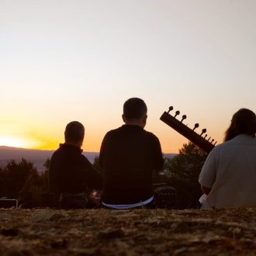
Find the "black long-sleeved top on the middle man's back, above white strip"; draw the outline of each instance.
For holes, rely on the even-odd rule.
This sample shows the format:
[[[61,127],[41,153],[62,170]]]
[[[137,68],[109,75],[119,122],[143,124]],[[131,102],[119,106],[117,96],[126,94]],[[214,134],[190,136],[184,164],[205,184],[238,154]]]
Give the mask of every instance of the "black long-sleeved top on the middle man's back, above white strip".
[[[150,198],[153,170],[163,165],[157,137],[131,125],[106,134],[100,161],[105,171],[103,202],[123,204]]]

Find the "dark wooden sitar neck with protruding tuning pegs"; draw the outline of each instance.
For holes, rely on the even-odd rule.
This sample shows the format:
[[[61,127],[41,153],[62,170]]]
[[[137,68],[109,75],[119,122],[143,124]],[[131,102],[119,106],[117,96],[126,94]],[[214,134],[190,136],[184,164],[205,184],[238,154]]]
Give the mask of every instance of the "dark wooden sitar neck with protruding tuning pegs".
[[[190,140],[193,144],[200,147],[202,150],[206,151],[206,153],[209,153],[213,147],[215,147],[216,143],[214,142],[214,139],[211,139],[211,137],[207,138],[206,129],[202,129],[202,132],[196,133],[195,129],[199,127],[199,123],[195,123],[195,126],[193,129],[189,128],[187,125],[182,123],[187,116],[183,115],[181,120],[178,120],[176,116],[180,114],[180,112],[177,110],[175,112],[174,116],[171,116],[170,112],[173,110],[173,107],[170,106],[168,112],[165,112],[160,117],[161,121],[166,123],[168,126],[171,126],[172,129],[176,130],[178,133],[182,134],[184,137],[186,137],[188,140]]]

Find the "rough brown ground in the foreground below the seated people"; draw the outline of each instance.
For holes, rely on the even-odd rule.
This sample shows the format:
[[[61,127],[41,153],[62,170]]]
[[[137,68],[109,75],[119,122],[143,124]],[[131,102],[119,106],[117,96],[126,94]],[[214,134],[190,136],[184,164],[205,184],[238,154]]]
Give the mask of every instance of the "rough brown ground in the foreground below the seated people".
[[[256,209],[0,209],[0,255],[254,255]]]

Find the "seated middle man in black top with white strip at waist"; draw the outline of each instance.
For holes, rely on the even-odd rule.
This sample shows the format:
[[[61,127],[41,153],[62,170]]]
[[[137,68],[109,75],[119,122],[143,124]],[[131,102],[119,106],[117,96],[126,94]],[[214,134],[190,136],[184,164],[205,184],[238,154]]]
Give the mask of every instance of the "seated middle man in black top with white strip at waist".
[[[114,209],[139,206],[171,208],[175,190],[154,192],[152,173],[163,168],[161,144],[144,130],[147,106],[142,99],[128,99],[123,105],[124,125],[106,133],[99,154],[103,170],[102,205]]]

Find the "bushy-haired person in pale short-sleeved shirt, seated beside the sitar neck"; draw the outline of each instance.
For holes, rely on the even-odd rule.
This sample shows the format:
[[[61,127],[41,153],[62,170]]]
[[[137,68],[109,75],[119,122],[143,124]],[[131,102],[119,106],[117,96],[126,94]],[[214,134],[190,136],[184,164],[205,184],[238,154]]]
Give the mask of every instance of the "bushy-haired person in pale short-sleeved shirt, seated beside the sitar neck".
[[[238,110],[199,175],[201,209],[256,206],[256,116]]]

